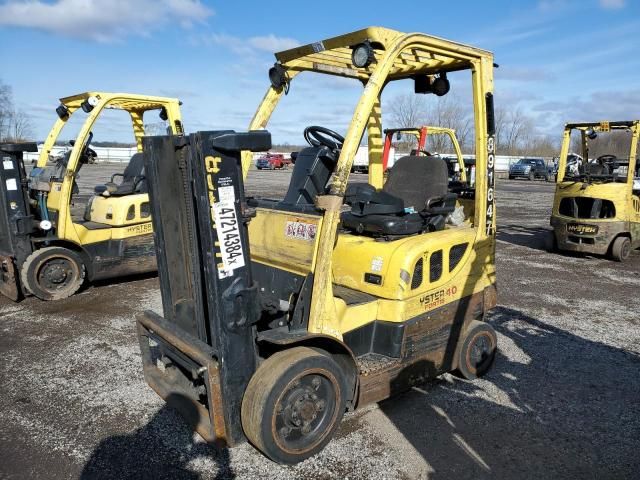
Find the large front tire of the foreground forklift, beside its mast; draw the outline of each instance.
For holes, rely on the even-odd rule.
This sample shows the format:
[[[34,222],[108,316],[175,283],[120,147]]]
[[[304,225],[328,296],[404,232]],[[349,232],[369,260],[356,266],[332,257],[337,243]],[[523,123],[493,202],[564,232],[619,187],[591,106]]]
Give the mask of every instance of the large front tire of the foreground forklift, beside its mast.
[[[301,462],[321,451],[333,437],[346,409],[346,385],[342,369],[327,353],[307,347],[275,353],[260,365],[245,390],[244,433],[271,460]],[[319,397],[304,398],[315,392]],[[305,420],[307,433],[303,432]],[[303,424],[295,426],[294,421]],[[289,435],[298,438],[289,443]]]

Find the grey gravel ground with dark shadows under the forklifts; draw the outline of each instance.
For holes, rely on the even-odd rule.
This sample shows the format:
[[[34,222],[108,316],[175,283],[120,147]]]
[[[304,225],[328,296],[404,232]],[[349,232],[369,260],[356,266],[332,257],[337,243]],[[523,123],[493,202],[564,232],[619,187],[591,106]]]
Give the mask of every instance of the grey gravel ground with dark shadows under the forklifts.
[[[85,167],[83,183],[105,170]],[[248,190],[273,195],[288,178],[252,172]],[[349,414],[295,467],[207,446],[146,386],[133,317],[161,310],[154,276],[57,303],[0,299],[0,477],[639,478],[640,252],[624,265],[546,253],[552,195],[498,184],[494,369]]]

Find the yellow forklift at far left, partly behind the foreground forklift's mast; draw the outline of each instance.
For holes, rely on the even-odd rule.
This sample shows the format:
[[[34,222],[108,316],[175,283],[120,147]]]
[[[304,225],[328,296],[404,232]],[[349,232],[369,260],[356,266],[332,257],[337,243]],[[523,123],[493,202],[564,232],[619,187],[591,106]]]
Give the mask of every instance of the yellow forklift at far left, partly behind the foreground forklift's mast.
[[[0,292],[18,300],[31,293],[42,300],[73,295],[90,281],[156,269],[142,137],[144,115],[160,113],[173,134],[183,133],[176,99],[128,93],[88,92],[60,99],[58,120],[27,172],[23,151],[35,144],[0,145]],[[72,211],[76,177],[92,155],[91,128],[105,109],[129,113],[138,152],[123,174],[97,185],[84,213]],[[72,149],[48,164],[52,147],[73,115],[86,114]]]

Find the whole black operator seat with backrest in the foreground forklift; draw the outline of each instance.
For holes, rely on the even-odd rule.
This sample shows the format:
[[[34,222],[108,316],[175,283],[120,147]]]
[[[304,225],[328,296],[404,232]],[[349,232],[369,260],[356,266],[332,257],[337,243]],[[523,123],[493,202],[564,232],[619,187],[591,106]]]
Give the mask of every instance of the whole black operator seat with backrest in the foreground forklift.
[[[447,164],[442,158],[402,157],[389,171],[382,190],[371,185],[347,189],[351,211],[342,214],[342,226],[372,236],[442,230],[457,198],[448,192],[448,183]]]

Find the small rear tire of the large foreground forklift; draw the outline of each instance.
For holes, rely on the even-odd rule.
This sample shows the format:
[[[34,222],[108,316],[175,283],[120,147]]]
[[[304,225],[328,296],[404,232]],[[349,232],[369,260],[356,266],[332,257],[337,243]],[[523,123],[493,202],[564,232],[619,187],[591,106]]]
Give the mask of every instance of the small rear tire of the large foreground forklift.
[[[478,347],[479,350],[475,350],[474,347]],[[464,340],[458,350],[458,369],[455,373],[467,380],[482,377],[491,369],[497,347],[498,338],[493,327],[474,320],[464,332]]]

